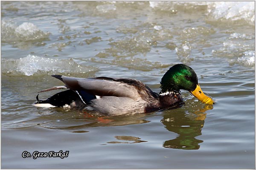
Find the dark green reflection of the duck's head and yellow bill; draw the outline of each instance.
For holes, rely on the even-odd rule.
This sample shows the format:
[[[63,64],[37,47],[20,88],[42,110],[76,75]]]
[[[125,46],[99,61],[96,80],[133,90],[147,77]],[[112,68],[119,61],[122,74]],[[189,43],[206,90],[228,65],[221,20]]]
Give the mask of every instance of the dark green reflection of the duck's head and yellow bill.
[[[163,143],[163,147],[184,150],[198,150],[199,143],[203,140],[196,139],[197,136],[202,135],[202,128],[204,127],[204,119],[206,118],[205,111],[212,109],[212,107],[205,106],[194,113],[181,113],[180,111],[169,110],[163,115],[161,122],[166,129],[178,134],[176,139],[171,139]]]

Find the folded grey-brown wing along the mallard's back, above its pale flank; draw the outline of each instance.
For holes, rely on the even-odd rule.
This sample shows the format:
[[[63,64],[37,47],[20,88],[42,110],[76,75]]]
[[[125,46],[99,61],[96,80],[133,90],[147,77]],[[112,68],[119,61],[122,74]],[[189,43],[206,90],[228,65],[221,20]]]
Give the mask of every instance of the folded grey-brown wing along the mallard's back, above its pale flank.
[[[52,75],[60,79],[67,88],[74,91],[86,91],[95,96],[128,97],[135,101],[145,98],[158,98],[158,94],[150,90],[145,84],[135,79],[97,77],[75,78]]]

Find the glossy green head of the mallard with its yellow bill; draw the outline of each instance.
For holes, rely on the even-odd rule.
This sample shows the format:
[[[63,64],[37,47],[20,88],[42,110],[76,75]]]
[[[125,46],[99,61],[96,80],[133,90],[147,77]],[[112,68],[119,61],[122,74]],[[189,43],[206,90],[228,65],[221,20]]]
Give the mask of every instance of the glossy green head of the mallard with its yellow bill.
[[[177,64],[172,66],[161,80],[161,93],[179,92],[180,89],[187,90],[201,102],[213,105],[215,102],[206,96],[198,84],[195,71],[187,65]]]

